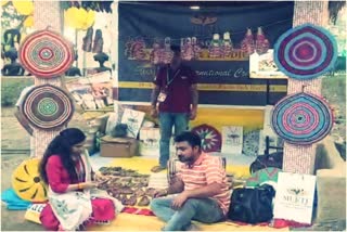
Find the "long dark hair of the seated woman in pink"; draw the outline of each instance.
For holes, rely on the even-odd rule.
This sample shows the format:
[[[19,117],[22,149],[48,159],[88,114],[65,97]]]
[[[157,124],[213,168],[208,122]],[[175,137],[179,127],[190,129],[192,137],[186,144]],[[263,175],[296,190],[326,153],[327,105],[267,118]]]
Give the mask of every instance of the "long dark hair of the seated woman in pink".
[[[60,132],[48,145],[43,157],[39,165],[39,173],[44,183],[48,184],[46,166],[49,157],[59,155],[62,159],[64,168],[67,170],[72,180],[77,179],[75,164],[72,158],[72,147],[86,140],[85,133],[77,128],[67,128]]]

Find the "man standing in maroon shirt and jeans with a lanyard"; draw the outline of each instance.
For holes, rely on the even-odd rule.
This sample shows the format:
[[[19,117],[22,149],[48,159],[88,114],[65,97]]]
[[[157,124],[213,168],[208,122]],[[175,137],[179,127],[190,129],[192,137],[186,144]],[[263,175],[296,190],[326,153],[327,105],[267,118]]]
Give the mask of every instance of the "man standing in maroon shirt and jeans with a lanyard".
[[[159,172],[167,168],[170,156],[172,127],[175,134],[188,129],[189,120],[196,117],[198,93],[197,76],[190,67],[182,64],[180,47],[171,46],[171,63],[158,70],[151,95],[152,117],[159,117],[160,145],[159,165],[151,169]],[[157,111],[156,103],[159,102]]]

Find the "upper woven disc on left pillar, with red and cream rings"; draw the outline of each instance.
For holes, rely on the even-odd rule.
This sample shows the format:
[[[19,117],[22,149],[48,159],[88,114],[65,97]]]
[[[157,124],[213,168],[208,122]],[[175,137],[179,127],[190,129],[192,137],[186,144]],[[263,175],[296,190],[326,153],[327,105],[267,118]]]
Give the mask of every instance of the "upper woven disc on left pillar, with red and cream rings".
[[[39,30],[25,38],[20,48],[23,66],[34,76],[53,78],[63,75],[73,64],[70,42],[51,30]]]

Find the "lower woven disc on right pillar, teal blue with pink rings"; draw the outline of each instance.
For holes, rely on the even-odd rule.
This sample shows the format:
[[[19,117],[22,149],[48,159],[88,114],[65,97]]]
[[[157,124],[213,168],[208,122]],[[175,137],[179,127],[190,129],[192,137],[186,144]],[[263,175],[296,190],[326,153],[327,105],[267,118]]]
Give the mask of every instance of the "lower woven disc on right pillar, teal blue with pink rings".
[[[333,113],[319,96],[287,95],[272,112],[273,130],[288,143],[311,144],[322,140],[333,127]]]

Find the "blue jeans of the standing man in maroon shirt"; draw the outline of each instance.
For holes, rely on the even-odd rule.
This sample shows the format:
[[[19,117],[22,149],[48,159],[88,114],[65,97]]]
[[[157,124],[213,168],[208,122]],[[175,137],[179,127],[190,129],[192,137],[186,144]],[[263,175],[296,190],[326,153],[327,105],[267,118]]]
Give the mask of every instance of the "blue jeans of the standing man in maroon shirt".
[[[159,145],[159,165],[167,167],[170,157],[170,139],[172,127],[175,126],[175,136],[188,130],[189,115],[187,113],[159,113],[160,124],[160,145]]]

